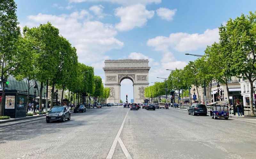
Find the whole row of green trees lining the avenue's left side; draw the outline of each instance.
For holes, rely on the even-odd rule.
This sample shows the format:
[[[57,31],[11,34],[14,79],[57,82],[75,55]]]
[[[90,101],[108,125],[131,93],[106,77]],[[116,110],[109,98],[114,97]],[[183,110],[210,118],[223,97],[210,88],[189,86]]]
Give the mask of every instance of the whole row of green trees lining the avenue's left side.
[[[4,99],[5,82],[10,75],[17,80],[26,79],[28,99],[30,88],[36,81],[39,82],[40,110],[42,91],[48,84],[52,87],[51,107],[53,106],[55,88],[62,90],[62,99],[65,90],[68,90],[68,93],[73,92],[76,97],[108,98],[109,89],[103,88],[101,78],[94,76],[92,67],[78,62],[76,48],[60,35],[58,28],[48,22],[34,28],[24,27],[21,34],[16,9],[14,0],[1,2],[0,77],[3,89],[2,99]],[[0,115],[3,114],[3,106],[4,103],[1,102]]]

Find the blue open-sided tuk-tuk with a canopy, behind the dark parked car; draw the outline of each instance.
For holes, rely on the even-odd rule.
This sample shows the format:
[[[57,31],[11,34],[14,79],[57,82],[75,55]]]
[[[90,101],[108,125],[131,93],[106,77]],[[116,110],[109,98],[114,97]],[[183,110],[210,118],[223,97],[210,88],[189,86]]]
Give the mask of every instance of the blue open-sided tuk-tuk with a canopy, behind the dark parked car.
[[[210,115],[212,119],[225,118],[228,120],[228,102],[227,101],[216,101],[211,103]]]

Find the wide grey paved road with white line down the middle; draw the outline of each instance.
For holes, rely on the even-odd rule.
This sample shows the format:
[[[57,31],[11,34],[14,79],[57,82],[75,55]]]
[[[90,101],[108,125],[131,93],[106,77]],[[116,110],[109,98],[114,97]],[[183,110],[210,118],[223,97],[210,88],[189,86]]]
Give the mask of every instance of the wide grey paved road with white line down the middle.
[[[0,158],[255,159],[255,127],[182,110],[103,107],[65,123],[1,127]]]

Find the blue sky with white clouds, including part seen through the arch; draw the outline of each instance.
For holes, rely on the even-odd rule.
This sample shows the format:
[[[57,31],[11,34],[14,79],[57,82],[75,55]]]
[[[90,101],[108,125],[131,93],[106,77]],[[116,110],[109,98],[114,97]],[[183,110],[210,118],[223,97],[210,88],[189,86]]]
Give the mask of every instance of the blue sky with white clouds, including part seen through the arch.
[[[218,41],[229,18],[255,11],[255,0],[16,0],[21,28],[50,21],[77,48],[78,60],[95,68],[104,82],[106,59],[149,59],[149,82],[183,68]],[[133,96],[121,83],[121,99]]]

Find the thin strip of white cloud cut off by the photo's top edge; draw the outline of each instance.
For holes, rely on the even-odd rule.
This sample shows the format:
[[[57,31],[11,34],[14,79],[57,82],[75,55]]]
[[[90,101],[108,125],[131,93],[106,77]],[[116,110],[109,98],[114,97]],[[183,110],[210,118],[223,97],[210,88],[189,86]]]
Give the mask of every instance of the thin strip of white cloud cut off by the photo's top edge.
[[[69,0],[70,3],[81,3],[81,2],[111,2],[122,5],[133,5],[133,4],[151,4],[161,3],[162,0]]]

